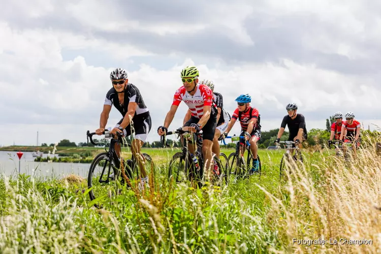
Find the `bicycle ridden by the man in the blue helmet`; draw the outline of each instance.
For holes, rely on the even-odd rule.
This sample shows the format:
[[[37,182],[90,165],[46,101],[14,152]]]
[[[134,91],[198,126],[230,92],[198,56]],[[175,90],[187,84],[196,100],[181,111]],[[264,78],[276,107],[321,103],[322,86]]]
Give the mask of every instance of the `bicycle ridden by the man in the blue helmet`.
[[[237,142],[235,152],[230,153],[229,157],[228,157],[229,164],[230,164],[230,160],[232,158],[232,163],[230,164],[231,166],[229,167],[230,168],[230,174],[237,175],[237,176],[247,176],[248,175],[247,174],[248,167],[250,167],[250,165],[252,164],[251,160],[253,160],[251,150],[250,150],[249,141],[246,140],[247,159],[245,162],[245,158],[243,157],[243,154],[241,154],[241,150],[243,148],[243,143],[239,142],[240,139],[244,139],[245,137],[234,135],[234,136],[227,136],[225,138],[232,139],[233,142]],[[226,145],[225,140],[223,140],[223,141],[224,141],[224,144]],[[240,159],[238,160],[238,158],[240,158]],[[259,173],[259,175],[261,175],[262,174],[262,163],[261,163],[261,158],[260,158],[259,154],[257,154],[257,159],[259,162],[259,172],[258,173]],[[232,172],[232,169],[234,166],[234,161],[236,161],[235,165],[237,166],[237,168]]]

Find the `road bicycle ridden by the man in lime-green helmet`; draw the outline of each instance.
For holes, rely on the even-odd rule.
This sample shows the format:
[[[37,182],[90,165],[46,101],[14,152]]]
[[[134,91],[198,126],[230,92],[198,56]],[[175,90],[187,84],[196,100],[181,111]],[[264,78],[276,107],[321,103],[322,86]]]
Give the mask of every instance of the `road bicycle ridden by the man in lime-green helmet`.
[[[172,178],[175,179],[176,182],[181,182],[183,179],[180,179],[180,177],[186,176],[187,179],[190,182],[197,182],[198,186],[202,186],[202,181],[204,178],[204,156],[202,153],[202,133],[191,133],[188,131],[183,131],[182,128],[177,129],[176,131],[167,132],[166,135],[163,135],[161,137],[161,141],[163,142],[164,146],[167,146],[166,144],[166,136],[177,134],[177,138],[181,136],[181,152],[176,152],[169,163],[168,168],[168,179],[171,181]],[[193,140],[196,140],[196,151],[195,155],[198,160],[198,167],[196,167],[194,161],[192,160],[192,156],[190,155],[190,152],[188,150],[188,138],[192,137]],[[224,154],[225,155],[225,154]],[[226,156],[226,155],[225,155]],[[176,168],[176,161],[179,160],[179,165]],[[217,163],[219,167],[219,172],[216,172],[213,167],[213,175],[218,176],[218,179],[224,177],[225,174],[223,173],[224,169],[221,167],[221,164],[219,163],[219,160],[216,160],[216,157],[213,156],[214,163]],[[176,175],[173,175],[175,173]]]

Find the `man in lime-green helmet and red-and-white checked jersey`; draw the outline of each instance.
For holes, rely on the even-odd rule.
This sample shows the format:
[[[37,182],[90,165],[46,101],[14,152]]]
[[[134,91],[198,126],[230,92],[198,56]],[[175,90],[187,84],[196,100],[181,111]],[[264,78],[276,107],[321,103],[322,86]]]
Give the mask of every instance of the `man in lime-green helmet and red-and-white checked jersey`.
[[[168,131],[173,117],[181,101],[185,102],[189,110],[192,112],[190,119],[183,125],[183,131],[203,131],[202,152],[207,163],[206,171],[210,172],[213,166],[212,145],[213,137],[217,124],[217,109],[213,105],[213,92],[204,84],[198,84],[199,71],[194,66],[185,67],[181,71],[181,79],[183,86],[175,92],[171,109],[167,113],[164,125],[157,129],[160,136],[165,135]],[[197,165],[195,156],[195,146],[189,142],[188,149],[192,155],[192,159]]]

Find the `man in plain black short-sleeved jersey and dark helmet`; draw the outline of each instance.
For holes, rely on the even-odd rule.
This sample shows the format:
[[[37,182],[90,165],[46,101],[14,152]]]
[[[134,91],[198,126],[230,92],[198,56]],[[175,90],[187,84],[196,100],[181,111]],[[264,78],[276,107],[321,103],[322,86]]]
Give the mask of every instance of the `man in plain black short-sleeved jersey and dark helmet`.
[[[297,113],[298,105],[295,103],[288,104],[286,110],[288,114],[283,117],[275,143],[280,141],[280,137],[283,135],[284,128],[287,125],[289,128],[288,141],[294,141],[298,144],[299,148],[302,148],[302,142],[307,140],[307,129],[304,116]]]

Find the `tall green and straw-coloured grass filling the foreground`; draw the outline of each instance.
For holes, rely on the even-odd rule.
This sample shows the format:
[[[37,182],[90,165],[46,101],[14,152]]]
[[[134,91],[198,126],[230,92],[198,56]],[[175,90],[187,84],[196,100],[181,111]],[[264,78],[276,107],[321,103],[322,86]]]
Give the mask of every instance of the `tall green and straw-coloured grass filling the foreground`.
[[[350,162],[332,151],[305,152],[304,166],[290,165],[292,174],[282,179],[283,151],[261,150],[261,177],[201,189],[168,182],[174,150],[146,151],[155,163],[150,188],[123,188],[106,196],[101,209],[89,203],[86,180],[76,176],[3,177],[0,253],[380,251],[381,158],[374,146]],[[318,239],[328,242],[297,242]]]

